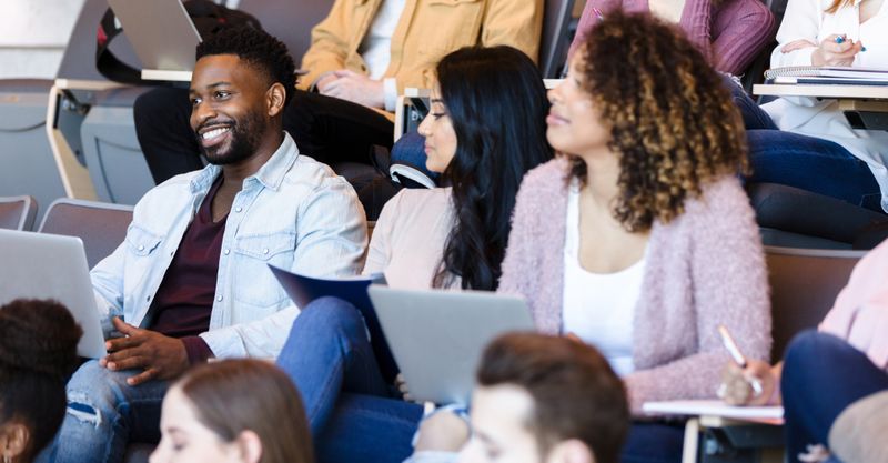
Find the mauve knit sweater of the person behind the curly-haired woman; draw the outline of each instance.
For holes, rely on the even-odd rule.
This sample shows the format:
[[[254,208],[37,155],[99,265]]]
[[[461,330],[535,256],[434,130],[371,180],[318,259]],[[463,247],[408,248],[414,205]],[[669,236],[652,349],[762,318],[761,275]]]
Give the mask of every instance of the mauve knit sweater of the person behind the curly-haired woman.
[[[715,69],[739,76],[774,40],[776,21],[759,0],[685,0],[678,26],[696,43]],[[571,52],[595,27],[598,8],[605,16],[622,8],[626,12],[649,12],[648,0],[589,0],[579,17]]]

